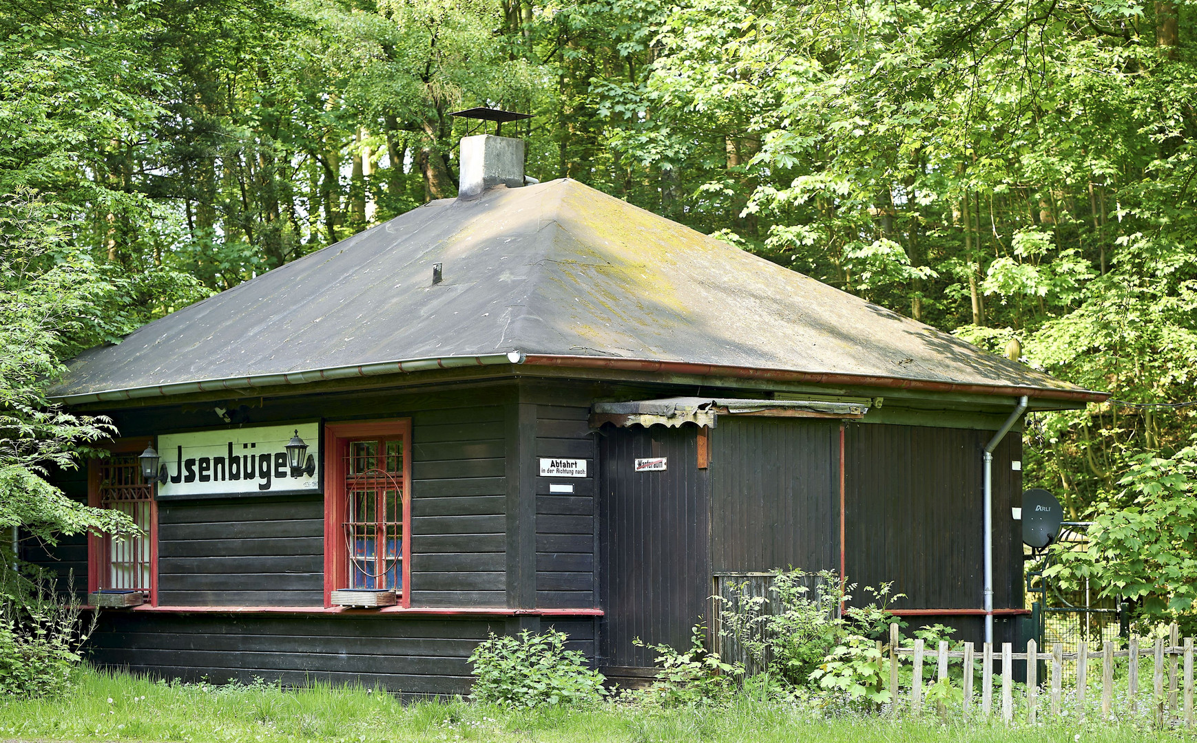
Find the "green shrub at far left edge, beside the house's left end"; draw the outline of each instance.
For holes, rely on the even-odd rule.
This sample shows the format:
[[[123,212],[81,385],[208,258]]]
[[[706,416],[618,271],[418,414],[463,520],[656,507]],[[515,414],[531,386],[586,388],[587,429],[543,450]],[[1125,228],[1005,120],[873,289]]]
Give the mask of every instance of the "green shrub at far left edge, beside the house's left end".
[[[79,622],[79,602],[41,578],[10,577],[0,596],[0,694],[57,696],[67,690],[96,628]]]

